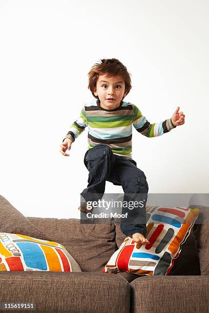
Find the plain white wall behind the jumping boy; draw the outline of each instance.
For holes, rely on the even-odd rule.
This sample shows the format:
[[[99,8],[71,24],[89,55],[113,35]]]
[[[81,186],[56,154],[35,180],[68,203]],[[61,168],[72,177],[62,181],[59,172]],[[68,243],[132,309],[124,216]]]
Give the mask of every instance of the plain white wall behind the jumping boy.
[[[124,101],[151,122],[177,106],[185,124],[157,138],[133,128],[150,193],[207,193],[208,1],[0,0],[0,194],[26,216],[79,218],[87,129],[59,144],[84,103],[88,72],[117,58],[132,74]],[[122,192],[107,182],[106,192]]]

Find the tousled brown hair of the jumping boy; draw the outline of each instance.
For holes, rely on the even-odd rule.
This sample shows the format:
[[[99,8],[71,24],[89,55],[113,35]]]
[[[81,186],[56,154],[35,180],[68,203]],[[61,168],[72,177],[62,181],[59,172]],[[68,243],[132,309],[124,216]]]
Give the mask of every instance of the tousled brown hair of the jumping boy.
[[[125,83],[125,92],[130,92],[132,85],[131,85],[131,74],[127,71],[126,66],[124,66],[119,60],[117,59],[100,59],[100,63],[95,63],[91,70],[88,73],[89,76],[89,86],[92,95],[94,98],[98,99],[98,96],[94,95],[94,90],[96,88],[96,83],[99,78],[99,75],[108,75],[108,77],[114,76],[121,76],[124,79]]]

